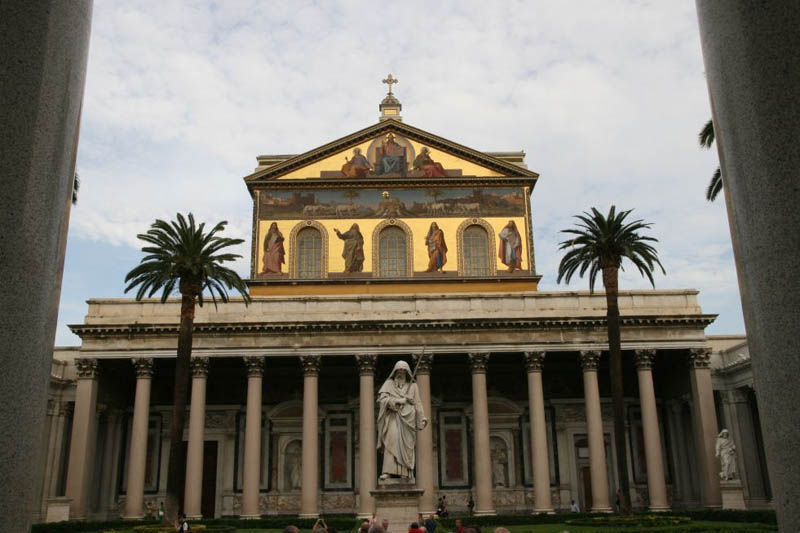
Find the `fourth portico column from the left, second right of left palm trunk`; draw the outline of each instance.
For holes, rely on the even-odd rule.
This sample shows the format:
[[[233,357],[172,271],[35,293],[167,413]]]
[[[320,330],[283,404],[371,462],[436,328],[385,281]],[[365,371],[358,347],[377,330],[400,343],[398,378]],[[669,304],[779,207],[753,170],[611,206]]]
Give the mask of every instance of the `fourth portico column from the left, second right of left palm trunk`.
[[[245,357],[247,367],[247,414],[244,426],[242,468],[242,514],[244,519],[261,517],[258,500],[261,489],[261,380],[263,357]]]

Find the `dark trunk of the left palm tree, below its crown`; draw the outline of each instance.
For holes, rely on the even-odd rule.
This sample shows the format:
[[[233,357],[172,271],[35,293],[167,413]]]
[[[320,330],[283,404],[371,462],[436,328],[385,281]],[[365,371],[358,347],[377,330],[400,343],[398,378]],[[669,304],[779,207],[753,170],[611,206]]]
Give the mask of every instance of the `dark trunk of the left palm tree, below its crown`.
[[[182,284],[183,285],[183,284]],[[167,466],[167,501],[165,520],[178,519],[178,494],[183,482],[181,472],[185,464],[183,451],[183,426],[186,419],[186,400],[189,395],[189,360],[192,357],[192,329],[195,300],[199,291],[181,287],[181,326],[178,333],[178,355],[175,360],[175,393],[172,400],[172,423],[169,429],[169,463]]]

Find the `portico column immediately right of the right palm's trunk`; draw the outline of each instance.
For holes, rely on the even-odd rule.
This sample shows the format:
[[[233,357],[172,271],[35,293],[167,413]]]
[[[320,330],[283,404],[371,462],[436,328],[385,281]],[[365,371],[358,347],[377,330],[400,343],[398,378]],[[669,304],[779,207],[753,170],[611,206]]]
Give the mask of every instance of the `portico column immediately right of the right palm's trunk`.
[[[661,431],[658,428],[658,408],[653,389],[655,350],[636,350],[636,372],[639,375],[639,403],[642,409],[644,457],[647,465],[647,493],[651,511],[668,511],[667,483],[664,478],[664,456],[661,451]]]

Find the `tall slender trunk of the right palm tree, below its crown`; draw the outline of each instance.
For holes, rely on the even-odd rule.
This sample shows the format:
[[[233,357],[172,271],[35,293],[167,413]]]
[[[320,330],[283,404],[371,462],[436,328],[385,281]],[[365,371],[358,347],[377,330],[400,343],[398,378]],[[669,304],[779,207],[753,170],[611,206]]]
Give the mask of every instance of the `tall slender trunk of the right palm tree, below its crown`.
[[[625,401],[622,388],[622,348],[619,330],[619,284],[617,266],[603,268],[608,322],[608,353],[610,359],[611,396],[614,400],[614,447],[617,452],[617,493],[619,512],[630,514],[631,496],[628,484],[628,453],[625,446]],[[615,498],[616,500],[617,498]]]

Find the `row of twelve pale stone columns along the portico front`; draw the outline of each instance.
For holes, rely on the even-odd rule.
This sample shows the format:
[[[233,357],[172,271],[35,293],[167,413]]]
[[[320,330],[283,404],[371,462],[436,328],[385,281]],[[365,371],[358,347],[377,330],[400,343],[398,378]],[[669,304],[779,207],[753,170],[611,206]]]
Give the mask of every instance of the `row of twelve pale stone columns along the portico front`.
[[[658,409],[653,388],[652,368],[656,351],[637,350],[635,365],[639,383],[642,425],[644,434],[645,461],[649,507],[653,511],[669,509],[664,475],[663,451],[658,423]],[[707,507],[721,504],[719,479],[716,475],[714,440],[716,437],[716,414],[714,411],[708,349],[691,350],[689,362],[689,381],[691,383],[697,448],[701,450],[701,483],[703,503]],[[542,387],[542,368],[547,353],[544,351],[524,352],[527,371],[528,399],[530,411],[530,453],[534,479],[534,509],[536,513],[553,512],[550,491],[550,458],[548,454],[545,406]],[[585,350],[580,352],[583,371],[583,387],[586,413],[587,436],[592,490],[592,511],[611,511],[609,497],[608,466],[604,442],[603,420],[598,389],[597,367],[601,352]],[[425,412],[431,414],[430,373],[431,355],[422,355],[417,365],[417,386]],[[475,514],[494,514],[492,494],[492,458],[489,439],[489,410],[486,388],[486,374],[490,353],[468,353],[472,381],[473,409],[473,474],[475,493]],[[247,404],[245,414],[245,437],[243,457],[243,486],[241,499],[242,518],[257,518],[259,509],[259,488],[261,484],[261,419],[262,419],[262,379],[265,359],[261,356],[244,357],[247,371]],[[355,356],[359,375],[359,516],[371,516],[375,501],[371,491],[377,481],[377,451],[375,432],[375,365],[377,355],[359,354]],[[318,376],[321,356],[301,356],[303,369],[303,422],[302,422],[302,485],[300,497],[300,516],[319,515],[319,462],[318,440]],[[134,359],[136,371],[136,397],[133,410],[133,431],[128,461],[127,498],[124,517],[129,519],[144,516],[143,491],[147,447],[147,425],[150,410],[150,383],[153,375],[153,360]],[[90,475],[91,457],[90,435],[94,432],[94,409],[97,397],[97,361],[76,360],[78,367],[78,388],[76,392],[75,416],[73,423],[72,447],[67,476],[67,496],[72,498],[71,516],[86,516],[86,500]],[[205,432],[205,390],[208,377],[208,358],[196,357],[191,363],[192,396],[189,415],[188,448],[186,458],[186,486],[184,510],[189,518],[201,516],[200,503],[203,479],[203,441]],[[416,444],[418,488],[423,490],[420,497],[420,512],[434,512],[436,508],[436,487],[434,485],[434,454],[432,424],[420,431]],[[617,460],[627,460],[618,458]]]

